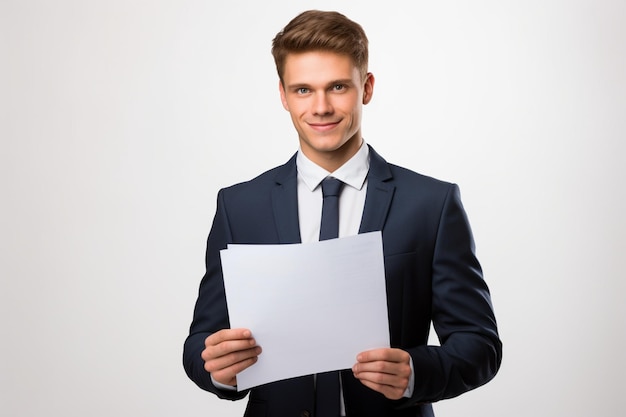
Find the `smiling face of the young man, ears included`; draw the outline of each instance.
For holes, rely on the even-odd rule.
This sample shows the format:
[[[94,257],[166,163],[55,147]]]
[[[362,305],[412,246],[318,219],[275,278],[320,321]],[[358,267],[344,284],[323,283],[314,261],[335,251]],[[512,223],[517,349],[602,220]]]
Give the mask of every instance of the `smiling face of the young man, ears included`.
[[[333,172],[358,151],[362,107],[372,98],[374,77],[367,74],[362,80],[350,57],[289,54],[279,88],[309,159]]]

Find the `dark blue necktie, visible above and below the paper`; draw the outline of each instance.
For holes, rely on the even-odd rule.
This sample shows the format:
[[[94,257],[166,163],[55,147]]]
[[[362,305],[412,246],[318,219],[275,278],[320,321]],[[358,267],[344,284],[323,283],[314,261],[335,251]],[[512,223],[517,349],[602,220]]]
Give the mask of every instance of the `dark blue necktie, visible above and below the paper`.
[[[343,182],[327,177],[322,181],[322,224],[320,240],[339,237],[339,193]],[[317,374],[315,383],[315,416],[336,417],[339,415],[339,371]]]

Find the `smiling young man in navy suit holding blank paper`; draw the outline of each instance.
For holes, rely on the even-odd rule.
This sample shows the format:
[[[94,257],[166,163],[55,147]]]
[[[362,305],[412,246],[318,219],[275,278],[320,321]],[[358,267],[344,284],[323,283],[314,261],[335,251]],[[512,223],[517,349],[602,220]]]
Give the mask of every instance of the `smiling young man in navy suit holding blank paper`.
[[[335,12],[304,12],[272,53],[300,148],[285,165],[219,192],[186,372],[220,398],[249,393],[246,416],[432,416],[431,402],[493,378],[502,354],[458,187],[388,164],[364,143],[362,106],[374,76],[361,26]],[[340,373],[237,392],[237,374],[262,347],[254,329],[230,329],[219,251],[320,239],[327,177],[342,182],[339,237],[382,231],[392,347],[362,352]],[[426,345],[431,321],[441,346]]]

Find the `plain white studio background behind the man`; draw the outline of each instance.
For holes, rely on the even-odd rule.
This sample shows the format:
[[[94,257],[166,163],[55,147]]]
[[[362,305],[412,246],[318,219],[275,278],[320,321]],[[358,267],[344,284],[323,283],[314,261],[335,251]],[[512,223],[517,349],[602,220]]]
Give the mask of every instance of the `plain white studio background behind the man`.
[[[218,189],[296,150],[270,42],[310,8],[368,33],[366,140],[461,186],[504,362],[438,416],[623,415],[619,0],[0,0],[0,414],[242,414],[182,344]]]

